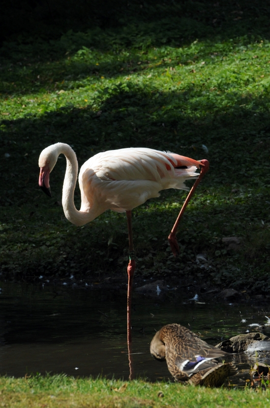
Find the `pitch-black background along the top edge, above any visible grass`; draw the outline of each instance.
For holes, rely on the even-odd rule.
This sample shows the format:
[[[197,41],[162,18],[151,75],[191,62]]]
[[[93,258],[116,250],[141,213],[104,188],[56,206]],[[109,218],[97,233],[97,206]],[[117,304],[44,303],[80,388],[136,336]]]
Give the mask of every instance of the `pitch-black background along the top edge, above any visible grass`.
[[[164,31],[164,24],[168,24],[167,34],[178,24],[178,42],[214,33],[264,38],[270,34],[269,1],[3,0],[1,4],[0,43],[18,36],[21,41],[27,36],[56,39],[69,30],[119,29],[134,24],[148,24],[148,31],[156,35]],[[184,31],[179,25],[183,18]],[[169,37],[163,36],[163,42],[170,41]]]

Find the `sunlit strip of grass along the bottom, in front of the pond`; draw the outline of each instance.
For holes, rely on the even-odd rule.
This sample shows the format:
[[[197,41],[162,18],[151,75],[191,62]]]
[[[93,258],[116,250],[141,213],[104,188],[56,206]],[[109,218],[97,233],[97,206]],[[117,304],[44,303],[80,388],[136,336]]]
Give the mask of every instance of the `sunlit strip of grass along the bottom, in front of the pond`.
[[[267,407],[269,390],[206,389],[173,383],[36,375],[0,378],[0,403],[6,407]],[[163,397],[158,395],[162,393]]]

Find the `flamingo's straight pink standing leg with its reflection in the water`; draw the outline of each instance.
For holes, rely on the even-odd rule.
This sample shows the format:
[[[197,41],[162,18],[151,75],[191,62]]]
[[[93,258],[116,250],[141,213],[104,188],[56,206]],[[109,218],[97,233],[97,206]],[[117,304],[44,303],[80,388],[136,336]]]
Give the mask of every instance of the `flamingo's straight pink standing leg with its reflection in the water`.
[[[126,211],[128,219],[128,232],[129,232],[129,264],[128,264],[128,352],[129,352],[129,367],[130,367],[130,379],[133,379],[133,367],[132,367],[132,350],[131,350],[131,300],[132,300],[132,283],[135,272],[135,251],[133,246],[132,235],[132,223],[131,223],[131,211]]]

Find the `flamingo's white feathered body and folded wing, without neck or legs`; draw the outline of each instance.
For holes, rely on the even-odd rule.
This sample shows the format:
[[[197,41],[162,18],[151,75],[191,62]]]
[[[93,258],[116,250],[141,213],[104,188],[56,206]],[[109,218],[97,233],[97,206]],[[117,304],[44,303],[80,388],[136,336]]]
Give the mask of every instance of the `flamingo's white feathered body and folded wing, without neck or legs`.
[[[158,197],[167,188],[189,190],[184,182],[196,178],[193,159],[187,168],[181,156],[147,148],[109,150],[87,160],[81,167],[79,184],[82,192],[81,210],[100,203],[115,211],[132,210],[148,198]],[[183,162],[189,164],[183,159]],[[184,166],[186,167],[186,166]]]

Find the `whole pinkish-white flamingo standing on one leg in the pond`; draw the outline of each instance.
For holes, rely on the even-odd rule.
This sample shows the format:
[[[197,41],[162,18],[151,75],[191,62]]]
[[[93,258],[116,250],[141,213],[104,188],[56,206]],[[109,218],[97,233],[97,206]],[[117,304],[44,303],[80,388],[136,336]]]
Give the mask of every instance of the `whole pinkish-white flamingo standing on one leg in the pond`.
[[[106,210],[126,212],[129,232],[128,264],[128,344],[131,343],[131,294],[135,271],[135,252],[132,237],[131,211],[148,198],[158,197],[161,190],[175,188],[189,190],[185,181],[197,179],[169,235],[173,254],[179,248],[176,230],[179,220],[203,174],[208,161],[196,161],[175,153],[150,148],[123,148],[100,152],[88,159],[79,173],[81,208],[74,205],[74,190],[78,174],[78,162],[74,150],[66,143],[46,147],[40,155],[39,186],[51,197],[49,174],[59,155],[64,154],[67,168],[63,185],[63,209],[66,218],[75,225],[93,221]],[[202,166],[200,175],[196,169]],[[197,178],[198,177],[198,178]]]

